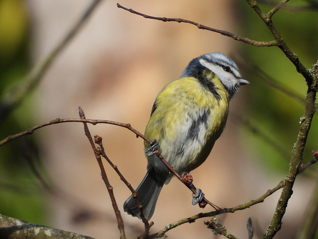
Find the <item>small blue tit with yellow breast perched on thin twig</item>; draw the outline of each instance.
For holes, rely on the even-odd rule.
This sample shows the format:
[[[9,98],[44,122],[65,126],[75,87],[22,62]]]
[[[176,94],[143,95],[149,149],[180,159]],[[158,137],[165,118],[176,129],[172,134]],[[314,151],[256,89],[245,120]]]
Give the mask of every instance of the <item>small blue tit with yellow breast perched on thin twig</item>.
[[[145,136],[157,139],[163,158],[182,176],[200,166],[209,156],[222,134],[229,112],[229,102],[248,84],[238,66],[222,53],[214,52],[193,59],[181,77],[159,92],[146,126]],[[149,220],[155,211],[161,188],[173,176],[144,142],[148,158],[147,173],[136,192]],[[124,211],[139,217],[132,195],[124,203]]]

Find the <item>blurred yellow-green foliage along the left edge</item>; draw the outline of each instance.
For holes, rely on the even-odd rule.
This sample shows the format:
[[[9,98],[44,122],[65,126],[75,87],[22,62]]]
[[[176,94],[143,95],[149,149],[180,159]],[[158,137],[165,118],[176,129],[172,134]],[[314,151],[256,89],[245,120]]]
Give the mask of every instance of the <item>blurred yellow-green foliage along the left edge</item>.
[[[25,129],[32,118],[27,107],[6,115],[6,90],[27,72],[28,13],[24,0],[0,0],[0,138]],[[17,112],[19,112],[17,114]],[[22,114],[21,114],[22,113]],[[21,120],[23,115],[23,120]],[[22,125],[21,125],[22,124]],[[29,126],[29,125],[28,125]],[[30,165],[39,165],[37,147],[31,137],[4,145],[0,150],[0,214],[42,222],[43,195]]]

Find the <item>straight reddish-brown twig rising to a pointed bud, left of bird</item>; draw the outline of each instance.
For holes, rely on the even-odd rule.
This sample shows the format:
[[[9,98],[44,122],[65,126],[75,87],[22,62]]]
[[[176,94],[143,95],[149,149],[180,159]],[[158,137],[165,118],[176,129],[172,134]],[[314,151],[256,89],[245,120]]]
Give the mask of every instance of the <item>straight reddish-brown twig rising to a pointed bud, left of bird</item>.
[[[79,117],[81,119],[85,119],[85,115],[84,115],[84,112],[81,109],[81,107],[79,107]],[[122,217],[120,215],[120,211],[119,211],[119,208],[118,208],[117,203],[116,203],[115,195],[114,195],[114,192],[113,192],[113,187],[109,183],[105,168],[103,166],[103,162],[101,160],[101,149],[99,147],[98,148],[95,147],[95,144],[94,144],[94,141],[93,141],[93,139],[91,137],[91,134],[89,132],[87,123],[83,123],[83,124],[84,124],[85,135],[87,136],[87,138],[89,140],[89,143],[90,143],[90,145],[91,145],[91,147],[92,147],[92,149],[94,151],[95,157],[97,159],[97,162],[98,162],[98,165],[99,165],[99,168],[100,168],[100,171],[101,171],[101,177],[102,177],[102,179],[103,179],[103,181],[104,181],[104,183],[106,185],[106,188],[108,190],[108,194],[110,196],[110,200],[111,200],[113,209],[115,211],[115,215],[116,215],[116,218],[117,218],[118,229],[119,229],[119,232],[120,232],[120,239],[126,239],[125,229],[124,229],[124,222],[123,222],[123,219],[122,219]]]

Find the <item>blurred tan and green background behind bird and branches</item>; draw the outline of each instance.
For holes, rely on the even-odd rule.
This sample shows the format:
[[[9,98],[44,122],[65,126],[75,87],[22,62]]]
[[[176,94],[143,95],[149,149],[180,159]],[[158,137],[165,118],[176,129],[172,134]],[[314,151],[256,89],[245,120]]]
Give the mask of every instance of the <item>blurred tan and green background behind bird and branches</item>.
[[[261,4],[266,12],[271,2]],[[318,60],[317,9],[303,9],[296,0],[278,11],[273,21],[288,46],[307,68]],[[11,105],[24,77],[43,61],[79,20],[88,0],[0,0],[0,136],[16,134],[59,118],[130,123],[144,132],[159,90],[177,79],[188,62],[205,53],[232,58],[250,81],[230,103],[227,127],[211,155],[191,172],[194,185],[220,207],[247,203],[274,188],[288,172],[289,159],[304,112],[306,82],[284,54],[274,47],[253,47],[231,38],[176,22],[145,19],[102,1],[78,35],[56,58],[39,84],[18,105]],[[246,1],[121,0],[121,5],[161,17],[180,17],[258,41],[273,39]],[[294,5],[293,5],[294,4]],[[296,5],[295,5],[296,4]],[[314,3],[312,3],[314,4]],[[295,7],[296,6],[296,7]],[[273,87],[274,86],[274,87]],[[279,88],[289,92],[282,92]],[[134,188],[146,173],[143,141],[112,125],[89,125],[103,138],[108,157]],[[304,162],[318,149],[314,118]],[[126,236],[137,237],[142,222],[123,212],[130,195],[113,169],[106,171],[125,223]],[[296,180],[294,194],[276,238],[296,238],[306,207],[316,193],[317,166]],[[0,148],[0,214],[94,238],[119,237],[111,202],[80,123],[42,128]],[[247,238],[252,218],[254,235],[266,230],[280,192],[234,214],[218,218],[228,232]],[[211,208],[191,205],[191,192],[178,180],[164,186],[151,219],[156,233],[167,224]],[[203,224],[182,225],[169,238],[219,238]]]

